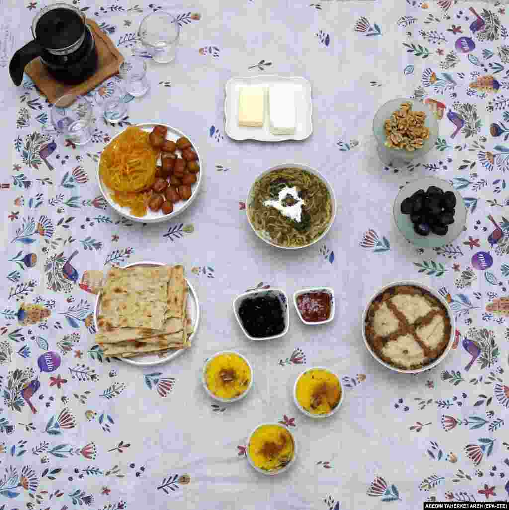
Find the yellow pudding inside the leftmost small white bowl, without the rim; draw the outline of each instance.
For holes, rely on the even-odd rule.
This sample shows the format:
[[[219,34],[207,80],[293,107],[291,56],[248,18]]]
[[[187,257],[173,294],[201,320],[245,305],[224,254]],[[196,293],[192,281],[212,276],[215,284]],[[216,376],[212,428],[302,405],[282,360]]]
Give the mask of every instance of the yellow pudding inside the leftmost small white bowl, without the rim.
[[[238,397],[247,390],[250,380],[249,365],[233,352],[216,356],[205,373],[207,388],[220,398]]]

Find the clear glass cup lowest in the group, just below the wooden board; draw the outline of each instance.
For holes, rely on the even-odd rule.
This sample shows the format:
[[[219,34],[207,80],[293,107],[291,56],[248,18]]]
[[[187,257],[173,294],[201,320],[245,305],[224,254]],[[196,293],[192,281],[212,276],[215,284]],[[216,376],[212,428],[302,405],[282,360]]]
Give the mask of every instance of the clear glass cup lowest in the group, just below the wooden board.
[[[67,94],[59,97],[50,112],[54,131],[75,145],[92,139],[92,105],[82,96]]]

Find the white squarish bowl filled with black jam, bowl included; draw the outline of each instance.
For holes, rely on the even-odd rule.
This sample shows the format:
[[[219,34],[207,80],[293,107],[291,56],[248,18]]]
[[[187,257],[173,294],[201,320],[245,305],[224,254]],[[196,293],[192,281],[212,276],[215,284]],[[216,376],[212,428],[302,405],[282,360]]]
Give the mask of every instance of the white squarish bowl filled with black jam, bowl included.
[[[244,292],[235,298],[233,312],[249,340],[274,340],[288,333],[288,297],[281,289]]]

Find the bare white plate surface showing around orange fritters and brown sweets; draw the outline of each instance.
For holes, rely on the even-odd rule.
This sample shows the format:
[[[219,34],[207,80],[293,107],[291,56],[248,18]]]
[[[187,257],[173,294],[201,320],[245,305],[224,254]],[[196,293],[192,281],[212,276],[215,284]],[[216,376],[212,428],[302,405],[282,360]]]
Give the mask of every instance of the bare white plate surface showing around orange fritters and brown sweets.
[[[110,207],[112,209],[114,209],[117,213],[121,214],[122,216],[129,218],[131,221],[136,221],[138,223],[160,223],[162,221],[172,220],[173,218],[175,218],[176,216],[178,216],[179,214],[184,212],[194,202],[194,200],[196,199],[196,197],[198,195],[200,186],[201,186],[201,176],[203,174],[203,160],[200,158],[196,144],[192,141],[192,139],[189,136],[182,133],[182,131],[179,131],[179,130],[175,129],[174,127],[169,126],[168,124],[163,124],[160,122],[146,122],[143,124],[135,124],[136,127],[139,127],[140,129],[142,129],[143,131],[146,131],[147,133],[150,133],[150,131],[152,131],[152,129],[156,125],[162,125],[162,126],[165,126],[168,128],[168,132],[166,133],[166,140],[177,141],[179,138],[185,136],[191,142],[191,144],[196,152],[196,155],[198,156],[198,162],[200,164],[200,171],[196,174],[196,176],[197,176],[196,183],[191,186],[191,190],[192,190],[191,198],[189,198],[189,200],[180,200],[180,201],[176,202],[173,205],[172,213],[163,214],[161,210],[154,212],[154,211],[150,211],[150,209],[147,209],[147,213],[145,214],[145,216],[139,217],[139,216],[133,216],[130,212],[129,207],[121,207],[118,205],[118,203],[113,201],[113,199],[111,198],[112,191],[106,186],[106,184],[103,183],[103,180],[100,177],[100,174],[99,174],[100,159],[99,159],[99,161],[97,162],[97,182],[99,183],[99,188],[101,190],[101,193],[106,198],[106,200],[108,201],[108,204],[110,205]],[[130,127],[130,126],[128,126],[128,127]],[[127,127],[125,129],[127,129]],[[120,135],[124,131],[125,130],[122,130],[120,133],[118,133],[118,135]],[[118,135],[113,137],[112,141]],[[176,154],[180,155],[180,152],[181,151],[179,149],[177,149]],[[158,162],[159,161],[160,161],[160,158],[158,158]]]

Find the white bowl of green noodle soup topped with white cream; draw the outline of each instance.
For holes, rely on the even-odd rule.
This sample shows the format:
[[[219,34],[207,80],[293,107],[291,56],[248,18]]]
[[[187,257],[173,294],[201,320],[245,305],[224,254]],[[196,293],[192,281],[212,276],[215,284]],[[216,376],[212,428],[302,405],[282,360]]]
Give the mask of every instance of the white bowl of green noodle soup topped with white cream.
[[[246,198],[258,237],[278,248],[305,248],[327,234],[336,217],[334,190],[317,170],[296,163],[260,174]]]

